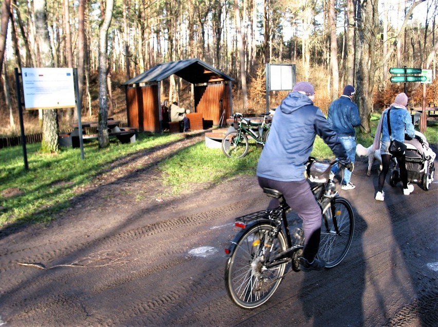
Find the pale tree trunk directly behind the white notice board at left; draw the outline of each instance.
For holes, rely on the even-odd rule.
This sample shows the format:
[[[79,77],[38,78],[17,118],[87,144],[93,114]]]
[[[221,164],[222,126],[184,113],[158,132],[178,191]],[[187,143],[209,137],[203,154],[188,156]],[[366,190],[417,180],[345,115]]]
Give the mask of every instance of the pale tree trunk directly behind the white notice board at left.
[[[46,0],[34,0],[36,40],[40,48],[41,67],[53,67],[53,53],[50,47],[47,27]],[[58,152],[58,115],[56,109],[43,110],[42,152]]]

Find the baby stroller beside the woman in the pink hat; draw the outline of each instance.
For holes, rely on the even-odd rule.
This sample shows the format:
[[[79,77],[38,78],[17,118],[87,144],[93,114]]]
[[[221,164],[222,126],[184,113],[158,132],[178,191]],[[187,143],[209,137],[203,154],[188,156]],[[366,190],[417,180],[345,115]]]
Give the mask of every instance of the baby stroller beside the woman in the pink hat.
[[[429,190],[430,184],[435,175],[435,165],[433,160],[436,154],[429,148],[426,137],[415,131],[415,137],[411,140],[405,139],[406,144],[406,170],[408,172],[408,183],[416,183]],[[400,181],[398,163],[389,179],[391,186],[395,186]]]

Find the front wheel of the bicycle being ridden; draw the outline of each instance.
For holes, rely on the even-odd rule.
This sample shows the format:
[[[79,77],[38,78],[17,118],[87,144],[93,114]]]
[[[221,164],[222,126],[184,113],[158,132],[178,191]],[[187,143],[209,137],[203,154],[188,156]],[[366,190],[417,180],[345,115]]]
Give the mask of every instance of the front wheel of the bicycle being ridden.
[[[350,203],[337,197],[334,206],[328,205],[322,215],[318,258],[325,261],[325,268],[337,266],[345,258],[353,240],[354,214]]]

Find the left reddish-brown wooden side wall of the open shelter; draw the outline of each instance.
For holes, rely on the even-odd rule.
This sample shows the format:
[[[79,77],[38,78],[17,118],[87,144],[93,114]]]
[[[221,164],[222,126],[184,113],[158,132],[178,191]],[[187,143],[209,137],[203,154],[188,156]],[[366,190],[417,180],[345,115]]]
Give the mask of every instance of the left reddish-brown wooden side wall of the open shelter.
[[[161,131],[158,85],[126,87],[127,121],[139,131]]]

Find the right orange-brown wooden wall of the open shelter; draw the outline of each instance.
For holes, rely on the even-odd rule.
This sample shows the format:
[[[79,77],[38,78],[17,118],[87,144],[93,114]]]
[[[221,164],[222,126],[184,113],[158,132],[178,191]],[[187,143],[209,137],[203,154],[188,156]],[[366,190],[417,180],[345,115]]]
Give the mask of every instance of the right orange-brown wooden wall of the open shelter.
[[[195,86],[195,110],[202,113],[205,120],[212,120],[214,125],[219,124],[222,108],[225,109],[224,121],[231,115],[230,89],[228,84],[210,84]]]

